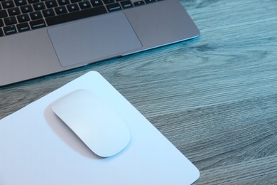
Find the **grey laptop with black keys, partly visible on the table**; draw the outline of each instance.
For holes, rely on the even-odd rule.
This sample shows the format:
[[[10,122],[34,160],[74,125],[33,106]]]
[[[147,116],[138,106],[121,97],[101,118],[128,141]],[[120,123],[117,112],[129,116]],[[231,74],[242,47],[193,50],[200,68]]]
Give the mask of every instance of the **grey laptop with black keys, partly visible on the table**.
[[[0,1],[0,86],[198,35],[178,0]]]

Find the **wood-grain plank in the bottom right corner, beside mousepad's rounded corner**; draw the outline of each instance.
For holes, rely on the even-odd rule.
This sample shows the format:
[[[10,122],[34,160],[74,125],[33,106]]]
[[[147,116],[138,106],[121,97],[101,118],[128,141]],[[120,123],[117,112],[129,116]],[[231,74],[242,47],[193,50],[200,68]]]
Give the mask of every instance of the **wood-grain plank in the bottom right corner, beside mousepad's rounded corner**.
[[[196,184],[277,184],[277,155],[201,171]]]

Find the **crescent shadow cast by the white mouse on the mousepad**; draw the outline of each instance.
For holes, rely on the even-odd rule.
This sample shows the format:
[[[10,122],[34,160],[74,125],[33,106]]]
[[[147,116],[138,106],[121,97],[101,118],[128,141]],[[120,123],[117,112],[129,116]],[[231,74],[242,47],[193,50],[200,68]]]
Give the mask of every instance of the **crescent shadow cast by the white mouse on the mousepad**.
[[[48,105],[44,112],[45,120],[50,126],[51,129],[55,132],[55,134],[60,137],[60,139],[65,142],[70,148],[72,148],[75,152],[81,154],[84,157],[90,158],[90,159],[106,159],[97,156],[97,154],[94,154],[87,145],[82,142],[82,140],[77,137],[77,135],[72,132],[72,130],[65,125],[65,123],[60,120],[60,117],[55,115],[55,113],[52,110],[52,104]]]

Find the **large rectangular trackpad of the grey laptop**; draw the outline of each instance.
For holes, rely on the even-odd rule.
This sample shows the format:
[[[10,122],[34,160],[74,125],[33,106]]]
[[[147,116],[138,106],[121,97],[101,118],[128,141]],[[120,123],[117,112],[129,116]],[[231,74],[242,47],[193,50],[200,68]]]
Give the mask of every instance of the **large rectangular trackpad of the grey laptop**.
[[[49,28],[48,34],[63,67],[121,56],[141,48],[122,12]]]

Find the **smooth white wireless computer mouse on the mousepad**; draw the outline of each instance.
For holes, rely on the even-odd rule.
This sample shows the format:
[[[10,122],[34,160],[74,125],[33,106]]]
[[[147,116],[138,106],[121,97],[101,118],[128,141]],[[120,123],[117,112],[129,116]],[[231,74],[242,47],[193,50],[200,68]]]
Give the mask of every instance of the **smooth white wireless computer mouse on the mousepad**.
[[[129,143],[129,129],[119,115],[89,90],[61,97],[52,110],[99,157],[111,157]]]

